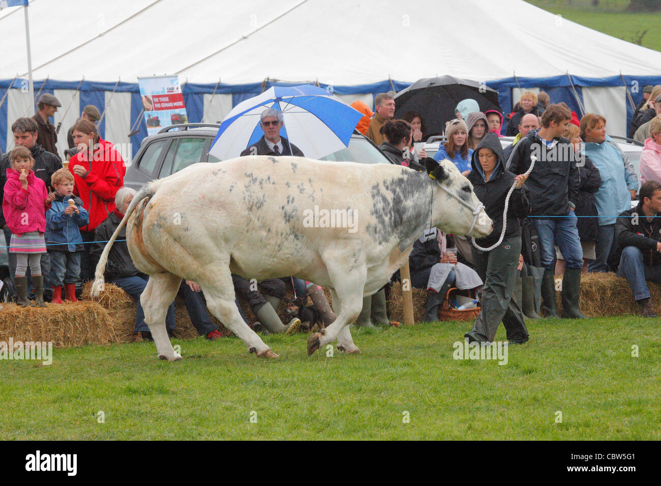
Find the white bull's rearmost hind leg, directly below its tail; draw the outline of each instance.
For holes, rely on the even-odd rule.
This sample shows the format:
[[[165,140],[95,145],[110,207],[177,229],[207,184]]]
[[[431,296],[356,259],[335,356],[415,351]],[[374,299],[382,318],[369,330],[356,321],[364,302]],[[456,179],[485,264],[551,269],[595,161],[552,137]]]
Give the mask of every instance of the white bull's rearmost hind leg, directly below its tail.
[[[181,355],[172,347],[165,329],[165,315],[175,300],[180,284],[181,277],[169,272],[150,275],[147,287],[140,296],[140,304],[145,311],[145,323],[149,326],[149,332],[162,360],[181,359]]]

